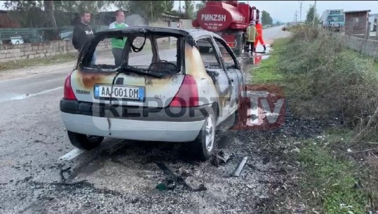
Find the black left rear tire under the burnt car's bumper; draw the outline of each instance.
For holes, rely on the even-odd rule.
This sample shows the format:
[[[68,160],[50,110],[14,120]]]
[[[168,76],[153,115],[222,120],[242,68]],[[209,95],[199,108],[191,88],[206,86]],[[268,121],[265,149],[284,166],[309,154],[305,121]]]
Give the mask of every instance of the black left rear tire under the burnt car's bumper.
[[[95,149],[100,146],[104,137],[94,136],[94,135],[83,135],[79,133],[74,133],[72,131],[67,131],[69,141],[78,149]]]

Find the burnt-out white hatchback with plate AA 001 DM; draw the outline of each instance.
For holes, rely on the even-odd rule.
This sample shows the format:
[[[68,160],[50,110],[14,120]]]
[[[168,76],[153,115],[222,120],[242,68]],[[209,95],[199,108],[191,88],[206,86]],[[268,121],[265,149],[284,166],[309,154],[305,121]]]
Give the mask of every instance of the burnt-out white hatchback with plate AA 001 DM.
[[[96,50],[109,39],[123,48]],[[211,50],[200,53],[199,41]],[[231,48],[212,32],[109,29],[81,49],[65,80],[60,112],[69,140],[80,149],[93,149],[104,137],[189,142],[206,160],[215,148],[216,127],[237,114],[244,81]]]

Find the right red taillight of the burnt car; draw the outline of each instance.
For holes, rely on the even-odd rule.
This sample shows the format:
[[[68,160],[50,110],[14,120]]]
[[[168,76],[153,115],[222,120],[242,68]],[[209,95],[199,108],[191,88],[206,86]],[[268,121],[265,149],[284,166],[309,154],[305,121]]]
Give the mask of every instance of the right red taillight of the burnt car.
[[[193,76],[185,75],[184,81],[170,102],[170,107],[195,107],[198,106],[198,88]]]

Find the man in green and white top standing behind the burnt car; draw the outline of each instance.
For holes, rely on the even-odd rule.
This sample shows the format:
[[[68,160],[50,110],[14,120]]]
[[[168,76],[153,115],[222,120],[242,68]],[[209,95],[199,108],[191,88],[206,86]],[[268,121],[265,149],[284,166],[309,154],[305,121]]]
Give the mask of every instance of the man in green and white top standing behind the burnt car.
[[[128,27],[128,25],[124,23],[125,14],[123,13],[123,11],[118,10],[114,13],[114,15],[116,15],[116,21],[112,22],[109,25],[109,29]],[[127,39],[126,37],[124,37],[123,40],[112,38],[112,53],[114,56],[114,63],[116,67],[119,67],[122,64],[121,57],[122,57],[123,48],[125,47],[125,44],[126,44],[126,39]]]

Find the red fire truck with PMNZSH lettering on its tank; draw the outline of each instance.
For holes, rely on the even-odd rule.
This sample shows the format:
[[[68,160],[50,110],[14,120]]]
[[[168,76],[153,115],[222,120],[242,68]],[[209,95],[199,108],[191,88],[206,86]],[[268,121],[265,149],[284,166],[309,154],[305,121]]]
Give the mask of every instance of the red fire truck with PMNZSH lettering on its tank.
[[[207,1],[192,25],[222,36],[232,51],[241,55],[245,46],[243,34],[248,24],[255,20],[259,20],[259,10],[255,6],[238,1]],[[202,53],[210,51],[210,46],[198,46]]]

